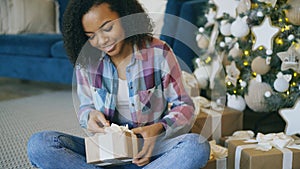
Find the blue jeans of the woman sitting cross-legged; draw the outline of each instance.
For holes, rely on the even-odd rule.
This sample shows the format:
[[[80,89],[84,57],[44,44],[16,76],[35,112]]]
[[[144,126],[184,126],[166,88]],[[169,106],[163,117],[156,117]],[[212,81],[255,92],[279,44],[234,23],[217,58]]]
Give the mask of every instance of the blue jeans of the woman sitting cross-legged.
[[[84,139],[56,132],[43,131],[31,136],[28,141],[28,157],[33,166],[43,169],[199,169],[209,159],[210,147],[198,134],[184,134],[156,146],[163,152],[143,167],[132,163],[113,167],[87,164]]]

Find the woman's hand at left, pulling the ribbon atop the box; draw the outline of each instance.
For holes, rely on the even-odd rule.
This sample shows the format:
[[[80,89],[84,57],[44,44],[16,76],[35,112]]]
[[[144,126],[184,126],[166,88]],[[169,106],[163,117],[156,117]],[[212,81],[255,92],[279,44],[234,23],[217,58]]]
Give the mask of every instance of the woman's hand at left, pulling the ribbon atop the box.
[[[104,133],[103,127],[110,126],[103,113],[93,110],[89,113],[87,130],[92,133]]]

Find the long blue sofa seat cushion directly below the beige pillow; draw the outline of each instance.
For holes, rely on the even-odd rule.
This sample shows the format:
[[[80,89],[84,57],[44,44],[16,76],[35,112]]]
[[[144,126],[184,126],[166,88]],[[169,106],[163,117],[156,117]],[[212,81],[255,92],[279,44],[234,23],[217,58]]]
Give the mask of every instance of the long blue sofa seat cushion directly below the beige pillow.
[[[61,39],[59,34],[1,35],[0,54],[51,57],[51,46]]]

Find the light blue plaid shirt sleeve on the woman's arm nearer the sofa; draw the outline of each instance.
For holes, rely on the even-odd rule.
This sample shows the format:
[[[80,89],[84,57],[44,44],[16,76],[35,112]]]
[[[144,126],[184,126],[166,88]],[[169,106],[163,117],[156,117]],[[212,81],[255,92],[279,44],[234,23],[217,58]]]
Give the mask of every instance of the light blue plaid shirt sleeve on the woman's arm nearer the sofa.
[[[90,89],[90,82],[87,71],[80,67],[76,67],[76,81],[77,81],[77,96],[80,102],[77,111],[80,126],[87,128],[89,113],[95,109],[93,97]]]

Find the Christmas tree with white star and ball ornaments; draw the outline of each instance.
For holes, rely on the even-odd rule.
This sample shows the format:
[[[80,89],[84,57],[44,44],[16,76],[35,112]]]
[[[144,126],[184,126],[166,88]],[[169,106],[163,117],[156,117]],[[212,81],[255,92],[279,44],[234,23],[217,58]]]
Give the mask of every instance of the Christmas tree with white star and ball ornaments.
[[[213,69],[223,69],[225,78],[210,83],[223,82],[228,96],[256,112],[294,106],[300,97],[300,0],[213,0],[205,16],[199,19],[196,71],[218,62]]]

